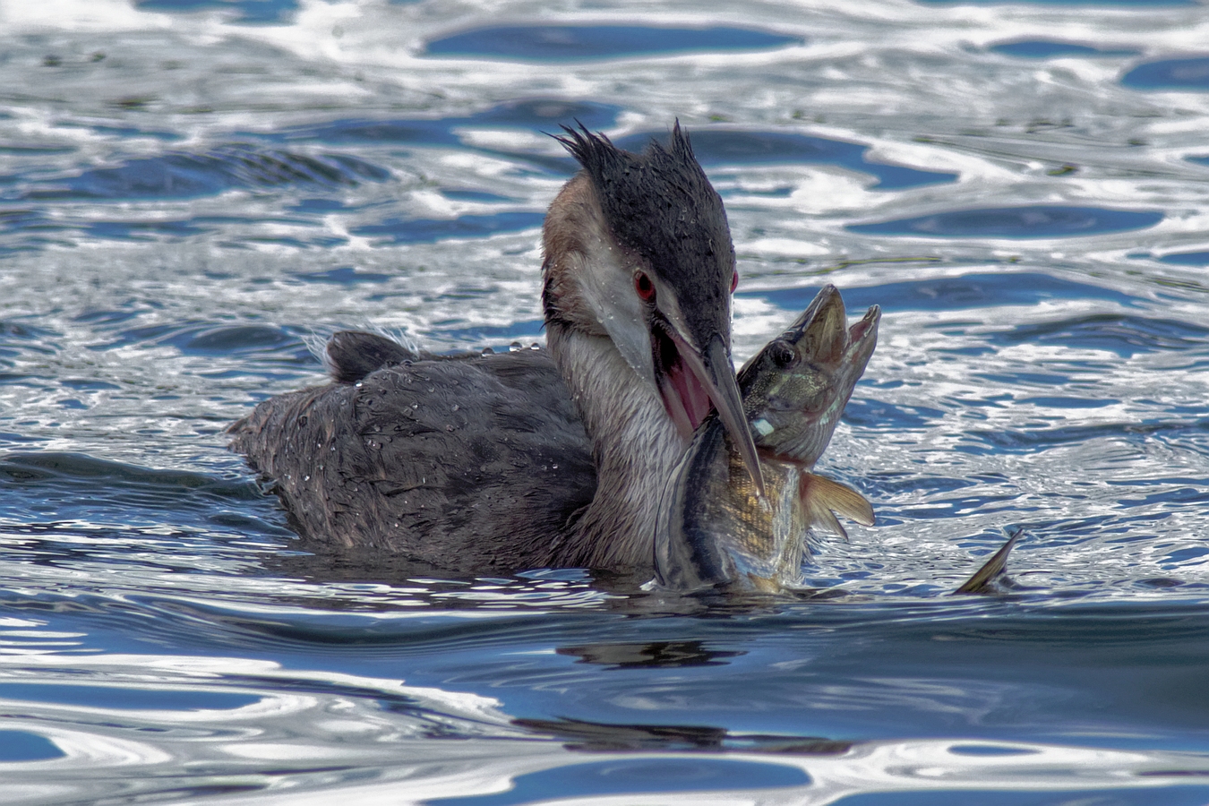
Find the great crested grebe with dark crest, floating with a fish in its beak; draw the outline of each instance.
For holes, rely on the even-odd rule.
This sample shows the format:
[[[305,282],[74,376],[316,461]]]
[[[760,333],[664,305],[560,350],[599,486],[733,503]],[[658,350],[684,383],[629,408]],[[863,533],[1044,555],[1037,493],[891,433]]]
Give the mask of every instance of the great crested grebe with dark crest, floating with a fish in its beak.
[[[455,572],[647,574],[660,495],[717,410],[763,489],[730,363],[722,199],[679,124],[642,155],[585,128],[543,226],[546,350],[438,356],[358,331],[332,382],[231,427],[294,527]]]

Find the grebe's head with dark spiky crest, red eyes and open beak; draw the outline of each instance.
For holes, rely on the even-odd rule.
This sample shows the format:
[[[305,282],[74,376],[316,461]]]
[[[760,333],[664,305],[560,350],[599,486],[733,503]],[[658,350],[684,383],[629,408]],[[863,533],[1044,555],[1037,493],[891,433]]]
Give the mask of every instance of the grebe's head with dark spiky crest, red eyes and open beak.
[[[543,230],[546,320],[613,342],[688,443],[717,408],[757,488],[763,477],[730,364],[735,251],[722,199],[679,123],[641,155],[602,134],[557,138],[583,170]]]

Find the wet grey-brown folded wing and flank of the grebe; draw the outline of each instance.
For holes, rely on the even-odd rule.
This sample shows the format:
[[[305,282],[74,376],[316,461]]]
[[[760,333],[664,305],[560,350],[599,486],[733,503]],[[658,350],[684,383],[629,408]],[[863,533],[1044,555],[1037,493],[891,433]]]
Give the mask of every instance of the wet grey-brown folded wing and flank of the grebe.
[[[538,350],[279,395],[232,431],[303,537],[451,570],[545,564],[596,488],[569,393]]]

